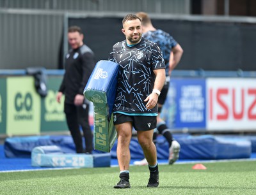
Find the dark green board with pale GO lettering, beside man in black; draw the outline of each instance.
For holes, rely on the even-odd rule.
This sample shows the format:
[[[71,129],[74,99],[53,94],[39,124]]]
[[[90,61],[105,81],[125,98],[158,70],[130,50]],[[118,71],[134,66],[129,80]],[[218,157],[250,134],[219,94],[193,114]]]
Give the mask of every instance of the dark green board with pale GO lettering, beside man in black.
[[[47,80],[48,94],[42,98],[41,107],[41,132],[68,131],[65,113],[64,96],[61,103],[56,101],[58,89],[60,88],[62,76],[51,76]]]

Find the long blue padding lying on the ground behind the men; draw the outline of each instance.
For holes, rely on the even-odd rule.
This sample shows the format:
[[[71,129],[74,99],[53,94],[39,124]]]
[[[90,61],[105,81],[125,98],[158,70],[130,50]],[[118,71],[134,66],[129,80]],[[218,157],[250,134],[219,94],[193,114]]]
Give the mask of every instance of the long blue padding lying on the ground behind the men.
[[[246,138],[230,138],[219,136],[175,136],[179,141],[180,159],[239,159],[250,158],[252,142]],[[74,143],[71,136],[32,136],[23,138],[7,138],[4,142],[6,157],[28,157],[34,147],[40,145],[58,145],[65,153],[74,153]],[[115,142],[111,150],[111,158],[116,158]],[[163,136],[157,137],[158,159],[168,159],[168,143]],[[132,138],[130,144],[131,159],[143,159],[142,149],[136,138]],[[93,150],[93,153],[100,153]]]

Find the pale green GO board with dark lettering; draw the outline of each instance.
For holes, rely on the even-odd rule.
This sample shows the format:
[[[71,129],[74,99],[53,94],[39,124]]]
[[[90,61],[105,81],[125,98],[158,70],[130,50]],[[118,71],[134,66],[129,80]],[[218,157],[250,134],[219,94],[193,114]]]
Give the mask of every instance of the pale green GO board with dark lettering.
[[[8,77],[6,86],[6,134],[39,134],[41,105],[33,76]]]

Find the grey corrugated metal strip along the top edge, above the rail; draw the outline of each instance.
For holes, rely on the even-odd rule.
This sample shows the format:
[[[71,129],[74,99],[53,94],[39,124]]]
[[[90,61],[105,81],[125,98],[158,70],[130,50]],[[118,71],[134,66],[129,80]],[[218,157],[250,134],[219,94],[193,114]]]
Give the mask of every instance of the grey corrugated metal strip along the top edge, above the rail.
[[[189,14],[190,0],[1,0],[1,8]]]

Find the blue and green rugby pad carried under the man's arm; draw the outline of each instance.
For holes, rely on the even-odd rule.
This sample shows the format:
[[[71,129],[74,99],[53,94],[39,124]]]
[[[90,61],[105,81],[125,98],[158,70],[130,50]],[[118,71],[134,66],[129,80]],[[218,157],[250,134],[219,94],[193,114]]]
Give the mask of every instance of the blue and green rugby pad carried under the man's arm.
[[[110,152],[116,140],[113,125],[113,105],[119,65],[111,61],[99,61],[93,69],[84,97],[92,101],[94,108],[93,139],[95,149]]]

